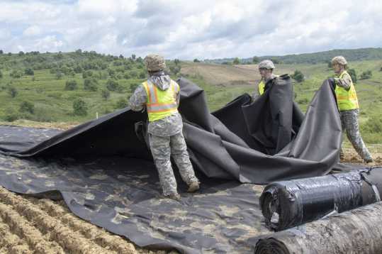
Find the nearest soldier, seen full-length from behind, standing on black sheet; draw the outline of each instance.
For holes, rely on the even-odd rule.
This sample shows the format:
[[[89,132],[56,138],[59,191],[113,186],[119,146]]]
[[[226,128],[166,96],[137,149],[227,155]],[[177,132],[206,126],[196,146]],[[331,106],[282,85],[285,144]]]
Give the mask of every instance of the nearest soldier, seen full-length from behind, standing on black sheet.
[[[180,200],[170,155],[179,168],[181,178],[189,185],[188,192],[198,190],[199,182],[189,159],[182,133],[183,121],[177,110],[180,98],[179,84],[164,74],[166,62],[162,56],[147,55],[145,65],[149,78],[135,89],[130,97],[130,108],[133,111],[147,109],[150,149],[159,172],[163,194],[171,199]]]

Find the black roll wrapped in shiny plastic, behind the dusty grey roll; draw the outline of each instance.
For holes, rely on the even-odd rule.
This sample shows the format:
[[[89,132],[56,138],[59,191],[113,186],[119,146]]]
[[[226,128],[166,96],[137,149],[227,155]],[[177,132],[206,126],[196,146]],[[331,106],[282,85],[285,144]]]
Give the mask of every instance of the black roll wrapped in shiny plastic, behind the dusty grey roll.
[[[364,169],[323,177],[273,182],[260,197],[266,225],[281,231],[380,201],[382,169]]]

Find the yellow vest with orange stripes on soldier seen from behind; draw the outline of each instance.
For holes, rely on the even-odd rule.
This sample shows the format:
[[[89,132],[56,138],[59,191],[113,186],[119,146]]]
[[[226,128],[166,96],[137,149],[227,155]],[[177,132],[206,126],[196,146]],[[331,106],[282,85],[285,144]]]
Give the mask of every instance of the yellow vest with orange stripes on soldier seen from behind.
[[[170,87],[162,91],[149,80],[142,83],[147,94],[146,108],[149,121],[157,121],[178,112],[176,94],[180,88],[179,84],[171,80]]]

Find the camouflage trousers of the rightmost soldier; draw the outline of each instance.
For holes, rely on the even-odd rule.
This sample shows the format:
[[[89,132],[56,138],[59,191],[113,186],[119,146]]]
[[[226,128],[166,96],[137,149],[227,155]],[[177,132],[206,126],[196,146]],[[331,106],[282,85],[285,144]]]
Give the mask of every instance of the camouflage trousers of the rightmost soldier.
[[[362,140],[361,134],[359,133],[358,114],[358,109],[339,111],[339,116],[341,117],[342,123],[342,131],[346,131],[347,138],[349,139],[350,143],[352,143],[359,156],[361,156],[361,158],[364,160],[371,160],[369,150],[366,148],[364,140]]]

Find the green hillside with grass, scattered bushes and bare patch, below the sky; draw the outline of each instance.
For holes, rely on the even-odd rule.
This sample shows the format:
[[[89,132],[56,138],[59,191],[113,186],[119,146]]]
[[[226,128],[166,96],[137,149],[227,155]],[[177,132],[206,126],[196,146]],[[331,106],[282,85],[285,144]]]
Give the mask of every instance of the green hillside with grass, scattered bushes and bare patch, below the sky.
[[[169,61],[168,65],[174,67],[174,61]],[[205,89],[210,111],[245,92],[252,94],[259,80],[257,65],[192,62],[180,65],[181,75]],[[361,79],[356,84],[361,105],[361,131],[366,143],[382,143],[381,67],[382,60],[349,62],[349,68],[354,69],[358,77],[361,72],[370,70],[372,73],[371,78]],[[293,74],[295,70],[305,76],[303,82],[294,83],[295,101],[305,111],[322,81],[333,72],[326,63],[276,65],[275,72]],[[2,54],[0,121],[20,118],[40,122],[89,121],[97,113],[101,116],[127,106],[130,94],[145,79],[140,57],[133,59],[79,50],[75,53]],[[73,81],[77,87],[70,90],[67,82]],[[78,103],[79,100],[83,104]],[[77,111],[74,103],[77,103]]]

